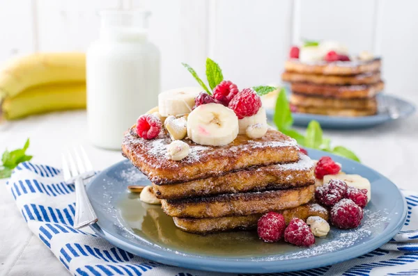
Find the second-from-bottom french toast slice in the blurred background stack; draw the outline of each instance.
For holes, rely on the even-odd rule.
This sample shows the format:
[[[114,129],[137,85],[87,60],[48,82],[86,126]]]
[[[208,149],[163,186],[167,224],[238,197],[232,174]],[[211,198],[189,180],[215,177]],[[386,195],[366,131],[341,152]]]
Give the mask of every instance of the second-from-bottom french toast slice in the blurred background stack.
[[[291,104],[295,106],[315,107],[315,108],[353,108],[377,110],[378,101],[373,98],[359,99],[338,99],[331,97],[305,96],[299,93],[292,93]]]

